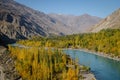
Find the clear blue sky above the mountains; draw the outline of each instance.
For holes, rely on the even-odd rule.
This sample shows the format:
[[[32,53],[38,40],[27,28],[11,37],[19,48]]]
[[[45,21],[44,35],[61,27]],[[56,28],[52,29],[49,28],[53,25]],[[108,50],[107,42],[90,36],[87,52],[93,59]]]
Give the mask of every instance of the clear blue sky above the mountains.
[[[89,14],[105,18],[120,8],[120,0],[15,0],[46,14]]]

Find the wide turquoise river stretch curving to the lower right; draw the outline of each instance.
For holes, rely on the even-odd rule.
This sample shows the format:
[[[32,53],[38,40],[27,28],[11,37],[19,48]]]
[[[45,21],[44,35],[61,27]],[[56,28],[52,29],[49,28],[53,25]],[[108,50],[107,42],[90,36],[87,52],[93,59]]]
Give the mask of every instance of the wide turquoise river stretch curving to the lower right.
[[[120,62],[80,50],[66,49],[64,52],[89,66],[97,80],[120,80]]]

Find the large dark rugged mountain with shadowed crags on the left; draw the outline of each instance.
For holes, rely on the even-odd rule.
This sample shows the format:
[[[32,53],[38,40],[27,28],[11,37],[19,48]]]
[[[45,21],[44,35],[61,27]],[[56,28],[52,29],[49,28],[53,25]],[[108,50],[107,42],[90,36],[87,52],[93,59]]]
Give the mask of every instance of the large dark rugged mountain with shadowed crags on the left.
[[[0,33],[10,39],[70,34],[60,21],[14,0],[0,0]]]

